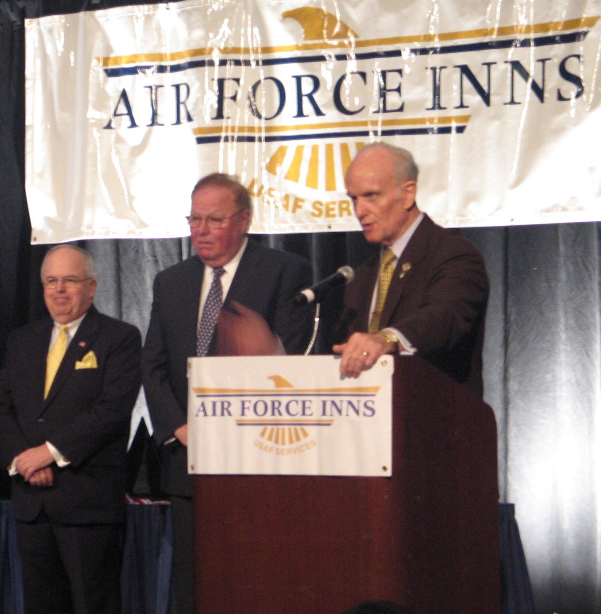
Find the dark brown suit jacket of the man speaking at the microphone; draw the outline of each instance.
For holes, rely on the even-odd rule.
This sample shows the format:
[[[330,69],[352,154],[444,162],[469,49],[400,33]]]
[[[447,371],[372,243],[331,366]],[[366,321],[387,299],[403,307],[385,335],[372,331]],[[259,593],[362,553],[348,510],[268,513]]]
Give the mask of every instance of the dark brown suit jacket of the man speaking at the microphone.
[[[367,331],[379,267],[376,255],[346,286],[338,341]],[[487,301],[480,253],[461,235],[424,216],[397,262],[380,326],[397,328],[418,354],[481,397]]]

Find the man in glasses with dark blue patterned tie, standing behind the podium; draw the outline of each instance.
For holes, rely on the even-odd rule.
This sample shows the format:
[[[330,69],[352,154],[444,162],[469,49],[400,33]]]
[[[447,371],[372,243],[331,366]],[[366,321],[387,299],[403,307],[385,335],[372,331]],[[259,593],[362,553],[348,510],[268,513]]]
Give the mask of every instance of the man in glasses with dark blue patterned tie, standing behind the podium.
[[[216,317],[221,305],[232,301],[242,305],[245,325],[238,328],[247,328],[251,345],[253,331],[263,326],[272,336],[267,340],[271,352],[300,354],[311,334],[310,309],[293,303],[296,293],[311,284],[308,263],[248,239],[250,217],[250,196],[243,185],[220,173],[204,177],[194,187],[188,216],[197,255],[155,279],[142,378],[161,451],[162,486],[172,502],[178,614],[193,612],[194,593],[192,480],[186,451],[188,358],[216,354]],[[248,345],[245,340],[236,343]]]

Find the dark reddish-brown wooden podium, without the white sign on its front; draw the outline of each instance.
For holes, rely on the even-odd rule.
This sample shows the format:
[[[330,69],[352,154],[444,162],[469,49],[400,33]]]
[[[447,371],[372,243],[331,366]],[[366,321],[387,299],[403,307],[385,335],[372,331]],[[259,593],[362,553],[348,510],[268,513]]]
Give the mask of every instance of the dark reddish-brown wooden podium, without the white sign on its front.
[[[491,408],[396,357],[392,477],[194,476],[196,614],[497,614]]]

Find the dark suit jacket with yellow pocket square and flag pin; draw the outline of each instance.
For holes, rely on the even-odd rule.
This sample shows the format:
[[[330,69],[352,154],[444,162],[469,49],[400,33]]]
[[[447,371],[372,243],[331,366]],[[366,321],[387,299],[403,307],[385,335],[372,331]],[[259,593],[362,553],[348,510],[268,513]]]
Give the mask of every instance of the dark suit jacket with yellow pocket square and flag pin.
[[[131,410],[140,389],[140,332],[91,306],[44,400],[50,318],[13,332],[0,371],[0,462],[50,441],[70,465],[52,465],[50,488],[12,478],[15,516],[42,505],[68,524],[117,523],[125,511],[124,465]],[[85,354],[98,368],[75,369]]]

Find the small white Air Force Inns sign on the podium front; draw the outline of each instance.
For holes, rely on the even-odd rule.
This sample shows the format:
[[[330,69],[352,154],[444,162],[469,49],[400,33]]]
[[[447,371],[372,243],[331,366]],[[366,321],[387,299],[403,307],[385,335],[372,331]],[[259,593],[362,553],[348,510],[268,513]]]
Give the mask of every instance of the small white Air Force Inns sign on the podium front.
[[[191,358],[188,473],[390,476],[392,372],[333,356]]]

